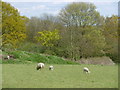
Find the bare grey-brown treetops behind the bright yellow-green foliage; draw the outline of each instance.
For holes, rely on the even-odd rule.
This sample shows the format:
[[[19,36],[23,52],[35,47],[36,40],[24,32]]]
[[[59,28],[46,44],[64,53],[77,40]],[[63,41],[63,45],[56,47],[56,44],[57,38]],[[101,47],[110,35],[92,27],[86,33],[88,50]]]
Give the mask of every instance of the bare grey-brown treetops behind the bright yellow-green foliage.
[[[27,36],[28,40],[35,42],[34,37],[37,35],[38,32],[41,31],[52,31],[54,29],[61,30],[62,25],[59,23],[57,17],[43,14],[40,17],[31,17],[27,26]]]

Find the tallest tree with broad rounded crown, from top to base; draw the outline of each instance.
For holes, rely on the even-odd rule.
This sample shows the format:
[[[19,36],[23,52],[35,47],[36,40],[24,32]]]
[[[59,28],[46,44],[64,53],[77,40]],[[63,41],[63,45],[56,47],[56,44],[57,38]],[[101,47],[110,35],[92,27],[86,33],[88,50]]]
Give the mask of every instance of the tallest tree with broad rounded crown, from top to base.
[[[70,42],[67,50],[71,53],[73,60],[93,56],[95,52],[98,53],[103,49],[105,43],[100,27],[104,23],[104,17],[100,16],[94,4],[84,2],[69,4],[60,11],[59,18],[66,27],[67,33],[65,36],[68,36],[67,41]],[[88,35],[90,38],[88,38]],[[100,42],[98,42],[99,39]],[[99,45],[101,43],[103,46]]]

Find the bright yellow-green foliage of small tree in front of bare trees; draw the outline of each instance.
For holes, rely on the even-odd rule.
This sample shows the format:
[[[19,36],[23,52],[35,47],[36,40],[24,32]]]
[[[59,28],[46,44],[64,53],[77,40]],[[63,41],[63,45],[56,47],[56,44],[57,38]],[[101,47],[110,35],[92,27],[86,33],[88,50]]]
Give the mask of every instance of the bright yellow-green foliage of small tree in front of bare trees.
[[[60,39],[59,30],[55,29],[53,31],[41,31],[38,32],[39,36],[36,36],[35,39],[39,41],[43,46],[54,45],[54,42]]]

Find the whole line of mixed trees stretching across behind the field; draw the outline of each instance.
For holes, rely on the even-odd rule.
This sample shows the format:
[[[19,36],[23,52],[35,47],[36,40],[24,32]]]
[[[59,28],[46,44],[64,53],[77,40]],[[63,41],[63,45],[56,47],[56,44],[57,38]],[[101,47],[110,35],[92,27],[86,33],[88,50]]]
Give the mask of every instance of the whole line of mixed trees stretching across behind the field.
[[[77,2],[68,4],[57,16],[43,14],[29,19],[2,3],[4,50],[11,46],[75,61],[109,56],[118,62],[117,15],[103,17],[94,4]]]

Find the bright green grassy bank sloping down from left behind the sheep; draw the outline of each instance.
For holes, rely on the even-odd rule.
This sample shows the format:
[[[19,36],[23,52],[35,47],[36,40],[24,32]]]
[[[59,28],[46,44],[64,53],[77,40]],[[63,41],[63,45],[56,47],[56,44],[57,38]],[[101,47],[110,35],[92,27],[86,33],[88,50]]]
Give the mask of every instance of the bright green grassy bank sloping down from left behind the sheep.
[[[6,59],[7,55],[11,56],[10,59]],[[79,64],[77,62],[64,60],[63,58],[57,56],[31,53],[26,51],[2,52],[2,54],[0,55],[0,63],[3,64],[7,63],[29,64],[38,62],[43,62],[46,64]]]

